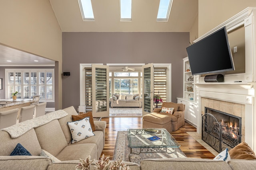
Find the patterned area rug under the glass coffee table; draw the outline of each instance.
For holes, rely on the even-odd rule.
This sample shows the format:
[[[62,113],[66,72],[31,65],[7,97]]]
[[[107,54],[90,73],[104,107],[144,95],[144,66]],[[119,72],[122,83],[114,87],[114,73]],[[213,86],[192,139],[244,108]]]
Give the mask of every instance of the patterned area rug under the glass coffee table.
[[[172,148],[168,148],[170,151],[174,151]],[[137,152],[135,150],[135,152]],[[114,149],[114,154],[113,154],[113,160],[120,160],[122,159],[123,161],[129,161],[129,156],[130,154],[130,148],[128,147],[128,139],[127,139],[127,131],[118,131],[117,137],[116,137],[116,146]],[[178,155],[178,156],[177,156]],[[176,148],[176,154],[175,153],[140,153],[140,154],[132,154],[131,156],[131,162],[134,162],[136,164],[140,164],[140,161],[143,159],[148,159],[148,158],[185,158],[186,155],[179,149]]]

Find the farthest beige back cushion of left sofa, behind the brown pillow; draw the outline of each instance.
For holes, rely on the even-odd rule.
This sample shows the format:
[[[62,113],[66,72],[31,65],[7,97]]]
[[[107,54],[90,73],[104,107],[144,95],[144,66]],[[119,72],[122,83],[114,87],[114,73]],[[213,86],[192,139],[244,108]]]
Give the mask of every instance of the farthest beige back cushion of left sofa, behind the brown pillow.
[[[71,143],[72,137],[71,137],[71,133],[70,133],[67,122],[68,121],[73,121],[71,115],[77,115],[77,112],[76,112],[76,109],[73,106],[67,107],[63,110],[66,111],[68,113],[68,115],[58,119],[58,121],[59,121],[61,129],[62,129],[62,131],[65,135],[67,143]]]

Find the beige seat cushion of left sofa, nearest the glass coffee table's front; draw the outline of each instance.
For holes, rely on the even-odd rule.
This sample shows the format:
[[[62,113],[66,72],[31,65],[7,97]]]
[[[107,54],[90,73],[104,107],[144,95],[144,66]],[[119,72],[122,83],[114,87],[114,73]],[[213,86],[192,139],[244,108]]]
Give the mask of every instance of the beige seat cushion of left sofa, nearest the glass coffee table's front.
[[[91,156],[97,159],[97,146],[95,143],[82,143],[79,145],[68,145],[55,157],[59,160],[79,160]]]

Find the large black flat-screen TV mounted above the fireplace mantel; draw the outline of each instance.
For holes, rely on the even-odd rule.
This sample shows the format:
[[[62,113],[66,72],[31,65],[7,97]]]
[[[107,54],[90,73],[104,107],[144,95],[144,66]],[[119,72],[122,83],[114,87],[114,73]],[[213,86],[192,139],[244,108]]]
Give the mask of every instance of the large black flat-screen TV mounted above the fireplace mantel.
[[[192,75],[234,70],[226,27],[186,48]]]

